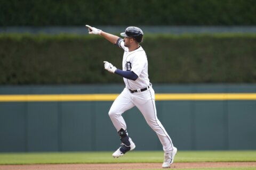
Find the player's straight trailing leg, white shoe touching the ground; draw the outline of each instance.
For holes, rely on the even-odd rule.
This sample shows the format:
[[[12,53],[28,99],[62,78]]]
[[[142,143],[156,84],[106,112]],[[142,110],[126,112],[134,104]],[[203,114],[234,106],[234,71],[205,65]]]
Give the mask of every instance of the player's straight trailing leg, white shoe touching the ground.
[[[165,152],[163,167],[170,167],[173,163],[173,158],[177,152],[177,148],[173,146],[171,138],[157,118],[154,89],[150,88],[136,96],[137,97],[134,101],[135,106],[138,107],[142,115],[145,117],[150,128],[156,132],[163,145],[163,150]]]

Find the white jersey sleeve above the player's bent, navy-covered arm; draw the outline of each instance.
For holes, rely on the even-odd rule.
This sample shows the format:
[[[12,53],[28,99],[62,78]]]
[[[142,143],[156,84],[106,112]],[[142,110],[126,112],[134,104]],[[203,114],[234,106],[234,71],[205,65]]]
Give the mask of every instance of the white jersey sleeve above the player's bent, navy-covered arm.
[[[141,53],[140,56],[133,58],[131,71],[133,71],[139,77],[146,63],[147,63],[146,54]]]

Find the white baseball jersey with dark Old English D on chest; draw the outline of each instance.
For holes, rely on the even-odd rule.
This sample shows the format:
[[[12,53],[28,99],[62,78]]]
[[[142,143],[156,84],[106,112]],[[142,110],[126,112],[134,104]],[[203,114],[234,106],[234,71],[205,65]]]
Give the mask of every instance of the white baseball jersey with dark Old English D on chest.
[[[133,71],[138,75],[136,81],[124,78],[126,88],[136,90],[149,86],[148,59],[144,49],[140,46],[129,52],[129,49],[124,46],[124,41],[119,43],[119,47],[124,49],[123,71]]]

